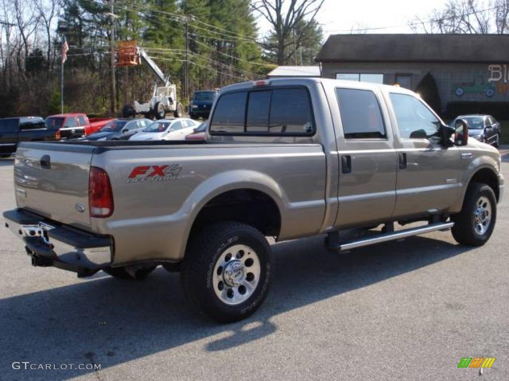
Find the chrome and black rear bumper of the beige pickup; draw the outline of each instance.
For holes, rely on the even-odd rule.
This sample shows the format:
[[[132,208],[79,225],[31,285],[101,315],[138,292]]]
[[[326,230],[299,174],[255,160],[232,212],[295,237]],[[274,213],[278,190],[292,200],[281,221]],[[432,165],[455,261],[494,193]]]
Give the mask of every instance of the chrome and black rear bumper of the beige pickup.
[[[4,212],[5,226],[21,239],[35,266],[85,272],[110,265],[113,241],[52,221],[24,209]]]

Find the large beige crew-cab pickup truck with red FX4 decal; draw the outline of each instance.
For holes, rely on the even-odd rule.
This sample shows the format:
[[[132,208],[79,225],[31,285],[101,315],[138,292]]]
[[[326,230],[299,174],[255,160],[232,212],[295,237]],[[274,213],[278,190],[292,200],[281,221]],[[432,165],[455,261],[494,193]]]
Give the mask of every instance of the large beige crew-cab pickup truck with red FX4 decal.
[[[403,88],[245,82],[221,90],[204,142],[20,144],[4,217],[35,266],[140,279],[162,265],[199,310],[231,322],[267,296],[266,237],[324,234],[341,251],[450,229],[486,243],[500,154],[467,130]],[[339,234],[351,228],[365,234]]]

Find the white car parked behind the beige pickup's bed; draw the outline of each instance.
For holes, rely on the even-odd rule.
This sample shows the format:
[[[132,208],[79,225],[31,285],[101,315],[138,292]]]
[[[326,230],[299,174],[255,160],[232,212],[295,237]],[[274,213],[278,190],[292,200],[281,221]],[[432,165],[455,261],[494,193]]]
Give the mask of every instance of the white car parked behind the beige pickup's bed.
[[[129,140],[185,140],[199,123],[188,118],[160,119]]]

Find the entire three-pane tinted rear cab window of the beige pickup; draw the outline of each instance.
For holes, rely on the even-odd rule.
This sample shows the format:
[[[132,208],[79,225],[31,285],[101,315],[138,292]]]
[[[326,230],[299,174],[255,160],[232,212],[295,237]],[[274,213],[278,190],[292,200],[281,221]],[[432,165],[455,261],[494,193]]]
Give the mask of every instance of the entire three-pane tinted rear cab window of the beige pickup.
[[[313,110],[305,87],[275,87],[222,94],[210,122],[212,135],[312,136]]]

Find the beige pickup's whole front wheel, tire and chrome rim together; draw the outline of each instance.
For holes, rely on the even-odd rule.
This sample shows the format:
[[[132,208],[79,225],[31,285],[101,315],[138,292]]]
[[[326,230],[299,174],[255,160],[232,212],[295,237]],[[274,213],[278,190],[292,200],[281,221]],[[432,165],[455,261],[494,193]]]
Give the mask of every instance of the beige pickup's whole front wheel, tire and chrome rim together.
[[[484,245],[491,237],[497,218],[497,200],[493,189],[473,182],[468,186],[461,212],[452,217],[454,239],[469,246]]]

